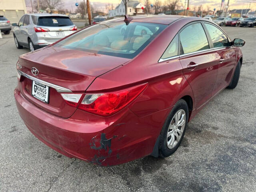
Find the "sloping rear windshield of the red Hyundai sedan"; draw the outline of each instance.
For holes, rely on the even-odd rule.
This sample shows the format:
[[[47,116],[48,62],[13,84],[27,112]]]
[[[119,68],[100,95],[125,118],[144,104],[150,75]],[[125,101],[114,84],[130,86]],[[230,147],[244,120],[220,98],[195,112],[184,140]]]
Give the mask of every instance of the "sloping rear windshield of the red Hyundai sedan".
[[[134,58],[167,25],[144,22],[103,22],[60,41],[55,46],[123,58]]]

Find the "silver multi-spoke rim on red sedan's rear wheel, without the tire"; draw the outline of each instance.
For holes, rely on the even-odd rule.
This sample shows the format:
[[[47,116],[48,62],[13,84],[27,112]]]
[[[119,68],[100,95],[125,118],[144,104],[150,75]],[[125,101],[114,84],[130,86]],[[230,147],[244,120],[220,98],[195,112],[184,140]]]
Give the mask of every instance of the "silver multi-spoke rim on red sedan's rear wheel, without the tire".
[[[168,127],[166,144],[169,149],[174,148],[178,144],[184,132],[185,125],[186,112],[183,109],[180,109],[174,114]]]

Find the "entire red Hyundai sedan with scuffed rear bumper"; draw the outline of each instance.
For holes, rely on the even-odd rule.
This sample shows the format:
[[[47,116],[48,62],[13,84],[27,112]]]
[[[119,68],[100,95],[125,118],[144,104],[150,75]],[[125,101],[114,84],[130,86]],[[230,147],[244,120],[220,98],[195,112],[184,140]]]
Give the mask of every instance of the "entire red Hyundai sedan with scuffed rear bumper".
[[[167,157],[196,113],[236,87],[244,43],[202,18],[109,20],[21,55],[16,105],[38,139],[70,158]]]

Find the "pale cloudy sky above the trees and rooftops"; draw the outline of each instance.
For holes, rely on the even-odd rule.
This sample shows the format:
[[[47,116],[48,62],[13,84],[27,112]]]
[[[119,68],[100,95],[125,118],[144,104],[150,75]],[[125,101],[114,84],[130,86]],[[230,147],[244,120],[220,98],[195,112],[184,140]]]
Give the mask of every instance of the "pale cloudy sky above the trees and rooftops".
[[[33,0],[32,0],[33,1]],[[62,0],[63,6],[65,9],[69,9],[73,11],[76,9],[75,3],[81,2],[83,0]],[[139,0],[140,2],[144,2],[144,0]],[[164,3],[166,0],[160,0],[162,3]],[[112,3],[113,6],[117,6],[121,0],[90,0],[90,2],[94,5],[94,8],[98,10],[104,10],[105,5],[107,3]],[[152,4],[154,4],[154,0],[150,0]],[[179,5],[184,6],[185,0],[180,0]],[[186,0],[187,2],[187,0]],[[228,0],[225,0],[225,5],[228,3]],[[210,8],[210,10],[213,10],[216,8],[216,10],[220,10],[220,4],[221,0],[190,0],[190,10],[194,10],[194,6],[200,6],[203,5],[203,9],[206,9],[207,6]],[[30,9],[30,0],[26,0],[26,5],[28,9]],[[256,10],[256,0],[230,0],[229,1],[229,10],[232,9],[248,9],[250,8],[252,11]],[[106,10],[104,10],[106,12]]]

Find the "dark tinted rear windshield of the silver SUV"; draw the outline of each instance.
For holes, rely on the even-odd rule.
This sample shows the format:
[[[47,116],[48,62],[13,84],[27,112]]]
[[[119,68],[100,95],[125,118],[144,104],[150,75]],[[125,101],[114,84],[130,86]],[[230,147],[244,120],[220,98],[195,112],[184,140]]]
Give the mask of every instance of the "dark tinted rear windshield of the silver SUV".
[[[74,25],[69,17],[64,16],[44,16],[39,17],[37,25],[48,27],[70,26]]]

